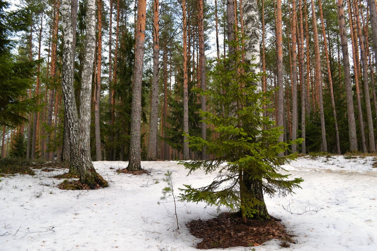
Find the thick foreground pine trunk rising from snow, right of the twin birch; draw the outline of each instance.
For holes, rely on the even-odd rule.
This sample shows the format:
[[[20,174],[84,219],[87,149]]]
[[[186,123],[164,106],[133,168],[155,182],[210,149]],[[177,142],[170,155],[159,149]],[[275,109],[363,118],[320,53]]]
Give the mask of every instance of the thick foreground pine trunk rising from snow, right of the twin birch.
[[[141,80],[143,78],[143,57],[145,41],[146,0],[138,0],[138,18],[136,22],[135,62],[132,87],[131,142],[130,161],[127,170],[141,169]]]

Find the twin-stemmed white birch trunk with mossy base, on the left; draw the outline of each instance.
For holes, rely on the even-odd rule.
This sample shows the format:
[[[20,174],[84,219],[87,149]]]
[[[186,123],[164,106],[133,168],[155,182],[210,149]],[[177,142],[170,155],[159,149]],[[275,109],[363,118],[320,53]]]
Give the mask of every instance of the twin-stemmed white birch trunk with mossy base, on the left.
[[[92,70],[95,48],[95,1],[87,1],[87,41],[84,69],[82,75],[82,89],[80,102],[80,124],[73,89],[73,28],[70,17],[69,0],[61,2],[61,15],[63,21],[63,73],[62,90],[64,99],[64,113],[67,118],[69,132],[69,172],[80,175],[80,181],[91,189],[98,186],[106,187],[105,181],[95,171],[90,158],[90,97],[92,84]],[[88,88],[89,87],[89,88]],[[89,91],[89,93],[88,93]],[[80,129],[80,133],[79,133]]]

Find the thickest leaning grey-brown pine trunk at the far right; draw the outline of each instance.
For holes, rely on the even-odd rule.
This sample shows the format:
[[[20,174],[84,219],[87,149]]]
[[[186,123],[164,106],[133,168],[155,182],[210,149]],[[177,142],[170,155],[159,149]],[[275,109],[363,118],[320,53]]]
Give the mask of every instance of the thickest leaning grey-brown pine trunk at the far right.
[[[354,105],[352,97],[352,84],[351,84],[351,68],[349,66],[348,56],[348,43],[346,24],[344,20],[343,0],[337,0],[339,28],[340,28],[340,43],[342,45],[343,54],[343,68],[344,79],[346,86],[346,99],[347,99],[347,118],[348,118],[348,133],[349,133],[349,150],[351,152],[357,151],[357,137],[356,137],[356,122],[354,114]]]

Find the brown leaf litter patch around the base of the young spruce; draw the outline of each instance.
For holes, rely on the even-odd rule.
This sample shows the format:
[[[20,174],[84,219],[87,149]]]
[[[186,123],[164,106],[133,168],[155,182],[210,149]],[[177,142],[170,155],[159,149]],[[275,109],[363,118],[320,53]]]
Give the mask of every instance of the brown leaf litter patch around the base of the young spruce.
[[[203,239],[196,246],[199,249],[259,246],[271,239],[281,240],[283,247],[288,247],[289,242],[294,243],[293,236],[280,222],[249,219],[244,224],[236,213],[222,213],[216,218],[193,220],[186,225],[193,236]]]

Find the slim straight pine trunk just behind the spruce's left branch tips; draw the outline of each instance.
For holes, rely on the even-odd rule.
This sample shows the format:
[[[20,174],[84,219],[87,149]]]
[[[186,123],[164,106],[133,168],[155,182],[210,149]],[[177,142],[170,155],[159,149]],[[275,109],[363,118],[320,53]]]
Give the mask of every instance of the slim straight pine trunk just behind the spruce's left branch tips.
[[[183,19],[183,132],[189,133],[189,96],[188,96],[188,79],[187,79],[187,18],[186,18],[186,0],[182,1],[182,19]],[[216,19],[217,20],[217,19]],[[216,29],[217,31],[217,29]],[[216,37],[216,39],[218,39]],[[218,40],[216,40],[218,41]],[[189,160],[189,142],[187,136],[183,136],[183,160]]]

